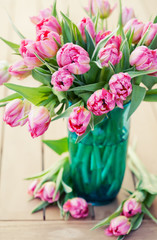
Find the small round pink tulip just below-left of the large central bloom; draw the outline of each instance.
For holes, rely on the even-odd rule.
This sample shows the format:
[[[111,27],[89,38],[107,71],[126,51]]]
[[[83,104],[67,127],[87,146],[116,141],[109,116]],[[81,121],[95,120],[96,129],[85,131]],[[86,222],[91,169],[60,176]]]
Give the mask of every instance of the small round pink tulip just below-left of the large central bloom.
[[[74,77],[68,70],[60,68],[52,75],[51,84],[57,91],[67,91],[73,84]]]

